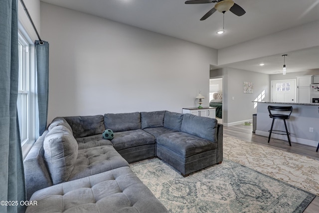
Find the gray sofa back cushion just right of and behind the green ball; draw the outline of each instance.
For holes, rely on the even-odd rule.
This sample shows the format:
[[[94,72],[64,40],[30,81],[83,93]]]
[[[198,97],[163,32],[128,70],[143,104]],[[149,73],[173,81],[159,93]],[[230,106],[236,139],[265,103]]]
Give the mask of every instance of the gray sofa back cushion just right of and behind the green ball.
[[[111,129],[113,132],[141,129],[141,114],[139,112],[104,114],[104,124],[106,129]]]

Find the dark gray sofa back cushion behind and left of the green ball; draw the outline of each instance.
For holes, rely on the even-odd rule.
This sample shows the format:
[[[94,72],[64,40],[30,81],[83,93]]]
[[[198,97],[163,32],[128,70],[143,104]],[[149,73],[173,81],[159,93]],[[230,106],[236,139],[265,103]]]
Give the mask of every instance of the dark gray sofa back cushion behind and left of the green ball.
[[[70,124],[74,138],[102,134],[105,130],[103,115],[64,117]]]

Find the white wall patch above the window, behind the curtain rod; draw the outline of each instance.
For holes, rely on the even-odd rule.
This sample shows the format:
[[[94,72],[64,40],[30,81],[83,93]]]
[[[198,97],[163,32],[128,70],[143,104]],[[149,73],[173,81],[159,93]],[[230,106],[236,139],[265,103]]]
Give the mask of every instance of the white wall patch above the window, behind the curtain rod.
[[[41,28],[40,28],[40,0],[24,0],[23,1],[28,12],[30,13],[30,16],[32,18],[32,21],[38,31],[38,33],[41,36]],[[21,2],[18,0],[18,19],[20,24],[23,26],[25,31],[28,33],[30,38],[35,41],[38,40],[38,37],[33,29],[33,26],[31,22],[28,19],[28,16],[26,15],[23,6]],[[43,38],[41,38],[43,39]],[[45,40],[45,39],[43,39]]]

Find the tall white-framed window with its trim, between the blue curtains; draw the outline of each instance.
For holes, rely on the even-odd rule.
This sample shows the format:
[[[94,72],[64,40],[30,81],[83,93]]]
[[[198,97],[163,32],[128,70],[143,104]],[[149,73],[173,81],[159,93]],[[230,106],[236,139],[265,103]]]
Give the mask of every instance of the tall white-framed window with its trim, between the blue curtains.
[[[35,55],[34,44],[18,25],[18,97],[17,112],[23,158],[32,147],[35,134]]]

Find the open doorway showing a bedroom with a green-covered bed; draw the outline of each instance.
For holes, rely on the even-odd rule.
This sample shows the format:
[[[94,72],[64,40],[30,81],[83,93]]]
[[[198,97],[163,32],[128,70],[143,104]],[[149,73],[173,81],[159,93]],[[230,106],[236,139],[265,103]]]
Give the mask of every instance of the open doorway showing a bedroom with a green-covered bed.
[[[216,119],[223,123],[223,78],[209,79],[209,106],[216,107]]]

